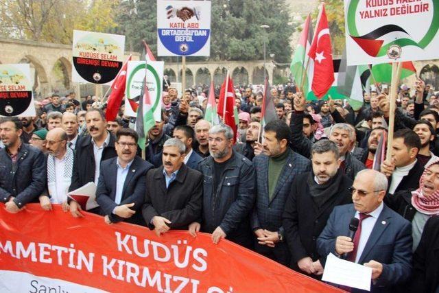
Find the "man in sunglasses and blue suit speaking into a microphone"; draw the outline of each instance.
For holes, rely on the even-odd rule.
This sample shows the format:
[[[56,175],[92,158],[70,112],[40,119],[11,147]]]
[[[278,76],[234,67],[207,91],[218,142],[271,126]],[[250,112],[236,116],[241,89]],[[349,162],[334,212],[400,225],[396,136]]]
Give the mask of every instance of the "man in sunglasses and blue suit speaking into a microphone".
[[[335,207],[317,239],[323,257],[333,253],[372,268],[370,292],[395,292],[412,271],[412,225],[383,203],[387,185],[375,170],[358,172],[351,187],[353,204]],[[353,217],[359,224],[351,239],[346,235]]]

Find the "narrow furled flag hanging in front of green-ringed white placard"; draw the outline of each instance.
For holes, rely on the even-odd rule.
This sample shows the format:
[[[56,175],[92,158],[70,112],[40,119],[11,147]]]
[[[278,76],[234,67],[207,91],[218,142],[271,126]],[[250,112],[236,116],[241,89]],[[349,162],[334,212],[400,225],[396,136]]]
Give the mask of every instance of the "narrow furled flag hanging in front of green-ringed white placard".
[[[148,90],[146,76],[147,76],[147,59],[145,52],[147,51],[147,45],[143,41],[145,48],[143,49],[142,60],[145,60],[145,78],[143,79],[139,108],[137,108],[137,119],[136,119],[136,131],[139,134],[139,147],[145,150],[145,143],[148,131],[156,124],[154,120],[154,111],[152,109],[152,100],[150,97],[150,91]]]

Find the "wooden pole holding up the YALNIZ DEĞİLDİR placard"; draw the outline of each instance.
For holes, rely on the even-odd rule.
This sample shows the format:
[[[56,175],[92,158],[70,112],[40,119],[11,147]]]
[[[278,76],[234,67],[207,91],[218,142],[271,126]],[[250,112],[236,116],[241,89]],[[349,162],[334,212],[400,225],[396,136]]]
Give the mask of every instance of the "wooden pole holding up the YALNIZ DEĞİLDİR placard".
[[[385,154],[386,161],[390,161],[392,158],[392,144],[393,144],[393,132],[395,124],[395,108],[396,108],[396,95],[398,95],[399,78],[401,77],[401,70],[403,69],[402,62],[392,63],[392,88],[390,91],[390,115],[389,115],[389,130],[387,140],[387,152]]]

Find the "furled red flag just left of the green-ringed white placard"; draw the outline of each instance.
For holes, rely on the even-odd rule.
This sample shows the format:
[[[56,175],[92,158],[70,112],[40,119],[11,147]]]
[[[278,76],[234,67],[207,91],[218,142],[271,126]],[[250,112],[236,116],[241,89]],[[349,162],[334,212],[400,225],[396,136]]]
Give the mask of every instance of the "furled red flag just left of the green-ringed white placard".
[[[126,69],[128,67],[128,61],[131,60],[131,55],[126,60],[125,64],[122,66],[115,80],[111,84],[111,93],[108,97],[106,119],[107,121],[114,121],[117,116],[117,112],[122,104],[123,96],[125,95],[126,86]]]

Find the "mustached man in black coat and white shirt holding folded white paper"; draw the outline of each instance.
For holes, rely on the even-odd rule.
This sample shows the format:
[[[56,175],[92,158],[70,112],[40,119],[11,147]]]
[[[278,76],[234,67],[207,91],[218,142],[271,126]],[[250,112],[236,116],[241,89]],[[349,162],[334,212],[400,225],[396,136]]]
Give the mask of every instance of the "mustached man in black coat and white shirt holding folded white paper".
[[[78,189],[89,182],[97,185],[99,180],[101,162],[117,156],[115,150],[115,137],[106,130],[105,114],[102,110],[91,108],[85,115],[88,135],[82,137],[75,150],[73,175],[69,191]],[[81,207],[74,200],[69,201],[73,217],[82,217]],[[99,208],[91,212],[99,213]]]

